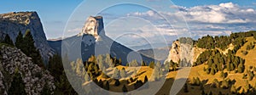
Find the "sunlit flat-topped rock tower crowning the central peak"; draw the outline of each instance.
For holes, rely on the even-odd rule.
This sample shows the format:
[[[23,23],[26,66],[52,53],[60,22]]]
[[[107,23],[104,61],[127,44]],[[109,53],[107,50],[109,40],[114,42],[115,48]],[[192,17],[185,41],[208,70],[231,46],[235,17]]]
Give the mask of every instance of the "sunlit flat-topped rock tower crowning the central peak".
[[[99,38],[100,35],[105,36],[102,16],[90,16],[86,20],[80,36],[84,34],[95,36],[96,40]]]

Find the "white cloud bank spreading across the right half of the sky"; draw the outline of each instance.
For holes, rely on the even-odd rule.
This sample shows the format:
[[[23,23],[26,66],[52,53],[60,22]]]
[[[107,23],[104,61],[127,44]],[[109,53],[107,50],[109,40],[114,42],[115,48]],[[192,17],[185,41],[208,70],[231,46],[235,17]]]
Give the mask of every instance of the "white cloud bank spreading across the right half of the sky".
[[[164,15],[171,24],[177,25],[179,21],[184,19],[189,24],[189,29],[193,35],[228,35],[236,31],[250,31],[256,30],[256,12],[254,8],[241,7],[235,3],[219,3],[218,5],[203,5],[186,8],[183,6],[172,5],[170,8],[176,8],[175,12],[153,12],[151,10],[143,13],[134,13],[130,16],[139,16],[147,20],[156,22],[160,27],[158,30],[163,31],[176,31],[177,33],[186,33],[186,28],[182,26],[175,26],[175,30],[170,29],[170,25],[165,22],[160,22],[160,13]],[[171,28],[172,29],[172,28]],[[147,30],[147,29],[144,29]],[[150,29],[148,29],[150,31]],[[168,34],[165,34],[168,35]]]

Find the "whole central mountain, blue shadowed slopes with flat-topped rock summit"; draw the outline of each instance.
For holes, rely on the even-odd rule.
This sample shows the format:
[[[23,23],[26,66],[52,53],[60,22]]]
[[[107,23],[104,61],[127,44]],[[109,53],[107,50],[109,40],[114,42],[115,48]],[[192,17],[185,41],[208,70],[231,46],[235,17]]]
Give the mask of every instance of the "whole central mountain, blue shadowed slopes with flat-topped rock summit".
[[[106,36],[101,16],[89,17],[81,33],[58,42],[62,43],[62,52],[58,53],[68,53],[68,57],[72,60],[77,58],[87,60],[91,55],[109,53],[112,57],[121,59],[122,64],[130,62],[132,59],[137,59],[138,62],[141,62],[143,59],[147,63],[154,61],[154,59],[150,59],[130,48],[126,48],[124,45],[114,42],[111,38]],[[55,45],[60,44],[58,42],[50,42],[50,45],[56,48]],[[60,50],[60,46],[59,49],[56,50]]]

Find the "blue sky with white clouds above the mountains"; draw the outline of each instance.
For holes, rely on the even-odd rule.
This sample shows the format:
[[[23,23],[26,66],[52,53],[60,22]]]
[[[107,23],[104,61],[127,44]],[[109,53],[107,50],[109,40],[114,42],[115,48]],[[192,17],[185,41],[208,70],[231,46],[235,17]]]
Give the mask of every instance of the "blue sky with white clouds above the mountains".
[[[77,34],[88,16],[100,14],[105,21],[106,34],[111,38],[117,39],[124,32],[137,35],[119,39],[119,42],[128,46],[147,41],[138,36],[146,36],[153,43],[159,42],[154,31],[162,32],[160,36],[166,39],[176,39],[179,34],[187,34],[182,31],[189,31],[192,37],[197,38],[207,34],[227,35],[230,32],[256,29],[256,21],[253,19],[256,17],[256,1],[253,0],[172,0],[172,3],[168,0],[122,0],[123,3],[131,4],[116,1],[4,0],[0,3],[0,13],[37,11],[48,39],[61,37],[63,33],[67,36]],[[163,17],[172,26],[161,21]],[[131,20],[132,24],[122,26],[127,20]],[[137,24],[137,21],[140,23]],[[129,38],[133,40],[127,40]]]

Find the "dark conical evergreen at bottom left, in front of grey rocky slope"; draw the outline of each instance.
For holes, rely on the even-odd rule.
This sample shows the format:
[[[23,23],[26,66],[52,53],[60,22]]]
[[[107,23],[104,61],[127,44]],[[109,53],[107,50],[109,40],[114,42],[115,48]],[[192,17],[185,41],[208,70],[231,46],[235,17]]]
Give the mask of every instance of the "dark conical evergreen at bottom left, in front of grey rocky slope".
[[[8,90],[9,95],[26,95],[25,83],[22,81],[22,77],[19,70],[15,70],[15,75],[13,81],[11,81],[11,86]]]

